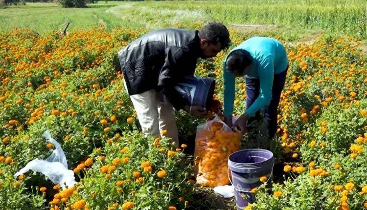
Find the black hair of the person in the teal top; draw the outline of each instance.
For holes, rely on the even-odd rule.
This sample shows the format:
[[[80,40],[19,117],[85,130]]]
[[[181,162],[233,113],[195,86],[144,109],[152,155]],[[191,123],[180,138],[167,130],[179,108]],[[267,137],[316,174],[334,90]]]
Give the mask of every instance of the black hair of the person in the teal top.
[[[247,50],[238,49],[229,53],[226,60],[226,70],[229,73],[242,75],[245,68],[251,64],[251,55]]]

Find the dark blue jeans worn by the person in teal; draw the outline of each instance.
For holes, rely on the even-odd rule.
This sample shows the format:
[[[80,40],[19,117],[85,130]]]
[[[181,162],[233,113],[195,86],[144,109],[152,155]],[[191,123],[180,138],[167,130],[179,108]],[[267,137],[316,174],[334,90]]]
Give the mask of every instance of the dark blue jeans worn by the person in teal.
[[[268,120],[268,132],[269,138],[273,138],[275,136],[275,131],[277,128],[277,115],[278,115],[278,105],[280,100],[280,94],[284,88],[285,78],[287,76],[288,67],[285,71],[275,74],[273,80],[272,87],[272,97],[270,104],[265,106],[264,109],[264,118]],[[248,77],[246,78],[246,107],[249,108],[253,102],[257,99],[260,92],[260,82],[256,77]],[[251,131],[251,127],[249,124],[260,119],[260,112],[257,111],[254,117],[251,117],[248,120],[248,129]]]

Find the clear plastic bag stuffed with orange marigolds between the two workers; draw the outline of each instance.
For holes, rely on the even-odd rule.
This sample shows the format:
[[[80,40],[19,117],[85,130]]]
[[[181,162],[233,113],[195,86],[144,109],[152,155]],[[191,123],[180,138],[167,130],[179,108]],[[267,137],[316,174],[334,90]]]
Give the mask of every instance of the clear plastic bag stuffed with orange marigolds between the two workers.
[[[211,188],[229,184],[228,157],[240,149],[240,143],[241,134],[233,132],[218,116],[199,125],[194,152],[197,183]]]

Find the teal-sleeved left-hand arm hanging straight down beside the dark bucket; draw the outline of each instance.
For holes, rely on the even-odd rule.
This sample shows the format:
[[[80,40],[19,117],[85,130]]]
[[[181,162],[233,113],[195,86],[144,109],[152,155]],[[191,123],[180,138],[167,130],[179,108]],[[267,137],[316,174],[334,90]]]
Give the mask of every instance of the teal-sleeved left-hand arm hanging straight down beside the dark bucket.
[[[224,117],[228,126],[232,125],[232,113],[234,102],[235,78],[234,75],[227,72],[226,62],[223,65],[224,80]]]

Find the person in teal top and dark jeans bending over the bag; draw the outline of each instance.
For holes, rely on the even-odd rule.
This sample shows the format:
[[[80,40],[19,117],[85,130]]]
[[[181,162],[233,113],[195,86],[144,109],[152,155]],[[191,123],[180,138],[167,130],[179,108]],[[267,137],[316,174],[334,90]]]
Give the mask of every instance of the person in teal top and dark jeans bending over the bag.
[[[287,53],[284,46],[268,37],[252,37],[232,49],[224,63],[224,115],[227,125],[247,132],[248,119],[259,118],[264,108],[268,120],[269,137],[275,136],[277,107],[288,70]],[[232,125],[235,78],[246,79],[246,111]]]

